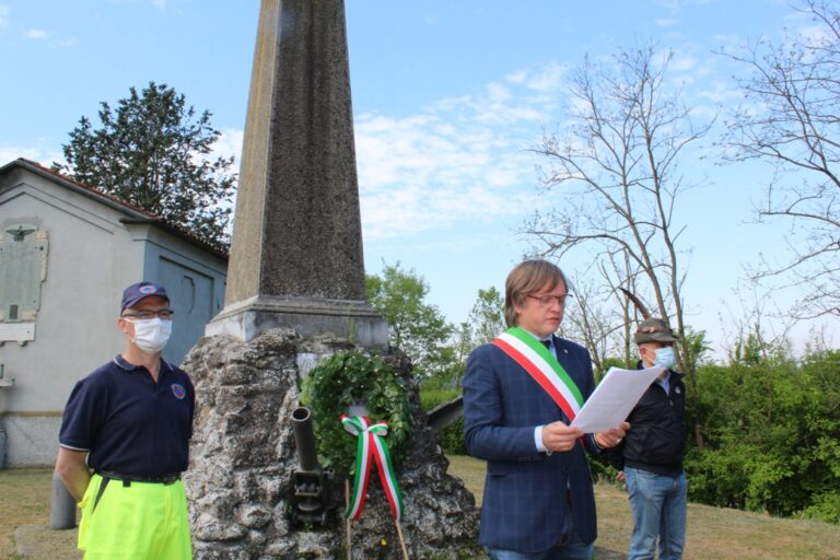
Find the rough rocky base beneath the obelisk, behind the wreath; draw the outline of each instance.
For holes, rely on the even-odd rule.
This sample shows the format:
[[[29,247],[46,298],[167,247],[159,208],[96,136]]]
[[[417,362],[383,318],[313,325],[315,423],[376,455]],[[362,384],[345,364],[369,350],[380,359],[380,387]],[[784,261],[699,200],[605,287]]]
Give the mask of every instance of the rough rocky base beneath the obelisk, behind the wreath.
[[[305,470],[292,420],[300,383],[312,364],[348,350],[355,348],[330,335],[303,338],[292,329],[272,329],[250,342],[205,337],[187,354],[183,366],[196,388],[196,421],[184,483],[196,560],[401,558],[375,474],[349,535],[342,517],[347,487],[338,476],[331,492],[337,508],[327,510],[324,523],[295,521],[296,513],[310,512],[296,500]],[[462,480],[446,474],[448,462],[427,423],[410,362],[397,349],[383,360],[409,388],[412,435],[406,456],[395,463],[409,558],[478,558],[476,502]]]

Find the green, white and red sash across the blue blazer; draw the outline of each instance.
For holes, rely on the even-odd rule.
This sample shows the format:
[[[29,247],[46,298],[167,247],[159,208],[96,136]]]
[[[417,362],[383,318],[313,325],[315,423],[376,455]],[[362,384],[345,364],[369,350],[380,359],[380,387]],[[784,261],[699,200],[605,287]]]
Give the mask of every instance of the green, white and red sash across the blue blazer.
[[[563,366],[534,335],[520,327],[511,327],[492,341],[523,366],[557,406],[569,422],[583,406],[583,396]]]

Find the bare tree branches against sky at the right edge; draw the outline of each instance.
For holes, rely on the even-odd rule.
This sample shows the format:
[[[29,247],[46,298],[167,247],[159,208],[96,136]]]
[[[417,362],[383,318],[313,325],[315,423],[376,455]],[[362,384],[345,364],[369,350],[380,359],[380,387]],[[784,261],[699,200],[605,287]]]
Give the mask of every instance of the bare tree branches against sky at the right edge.
[[[790,220],[805,232],[786,262],[762,261],[751,275],[791,277],[801,296],[790,313],[805,319],[840,315],[840,13],[828,0],[797,11],[819,33],[724,52],[750,73],[736,78],[746,102],[727,119],[723,144],[730,161],[763,161],[777,172],[759,221]]]

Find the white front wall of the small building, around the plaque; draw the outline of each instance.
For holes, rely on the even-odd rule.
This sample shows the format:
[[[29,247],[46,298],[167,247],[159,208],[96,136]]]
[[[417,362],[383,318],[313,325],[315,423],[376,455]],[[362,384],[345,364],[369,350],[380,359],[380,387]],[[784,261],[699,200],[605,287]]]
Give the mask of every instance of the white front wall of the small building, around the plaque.
[[[122,288],[141,275],[143,255],[121,217],[21,170],[0,187],[0,228],[34,224],[49,240],[35,340],[0,346],[4,377],[14,380],[0,389],[10,467],[55,460],[61,413],[75,382],[125,345],[116,328],[119,301]]]

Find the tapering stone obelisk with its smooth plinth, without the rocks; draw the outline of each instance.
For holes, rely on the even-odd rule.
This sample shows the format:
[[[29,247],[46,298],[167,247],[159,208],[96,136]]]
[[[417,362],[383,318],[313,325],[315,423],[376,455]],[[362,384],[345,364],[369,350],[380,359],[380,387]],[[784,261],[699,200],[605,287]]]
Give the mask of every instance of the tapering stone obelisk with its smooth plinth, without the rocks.
[[[387,348],[366,304],[345,5],[262,0],[224,310],[208,335]]]

